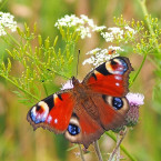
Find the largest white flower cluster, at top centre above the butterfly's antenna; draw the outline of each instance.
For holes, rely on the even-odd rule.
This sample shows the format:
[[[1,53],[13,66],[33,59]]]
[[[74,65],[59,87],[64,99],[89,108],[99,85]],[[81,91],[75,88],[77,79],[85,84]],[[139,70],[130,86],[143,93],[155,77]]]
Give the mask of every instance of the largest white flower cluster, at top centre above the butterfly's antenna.
[[[76,31],[80,33],[81,39],[85,37],[91,38],[91,32],[100,32],[107,27],[101,26],[98,27],[94,24],[92,19],[89,19],[87,16],[81,14],[80,18],[76,17],[74,14],[64,16],[64,18],[59,19],[54,27],[58,29],[60,28],[73,28]]]

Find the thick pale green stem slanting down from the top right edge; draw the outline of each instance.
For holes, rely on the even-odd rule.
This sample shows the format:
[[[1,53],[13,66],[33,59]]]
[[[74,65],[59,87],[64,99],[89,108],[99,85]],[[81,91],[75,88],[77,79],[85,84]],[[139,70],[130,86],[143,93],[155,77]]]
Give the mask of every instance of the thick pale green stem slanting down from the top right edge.
[[[140,7],[142,9],[142,12],[143,12],[144,17],[145,17],[145,21],[147,21],[147,24],[148,24],[151,37],[155,36],[155,33],[153,31],[153,28],[151,27],[151,23],[150,23],[149,13],[148,13],[148,10],[147,10],[147,7],[145,7],[145,0],[138,0],[138,2],[139,2]],[[154,46],[157,48],[157,51],[160,52],[159,44],[158,44],[157,41],[154,41]]]

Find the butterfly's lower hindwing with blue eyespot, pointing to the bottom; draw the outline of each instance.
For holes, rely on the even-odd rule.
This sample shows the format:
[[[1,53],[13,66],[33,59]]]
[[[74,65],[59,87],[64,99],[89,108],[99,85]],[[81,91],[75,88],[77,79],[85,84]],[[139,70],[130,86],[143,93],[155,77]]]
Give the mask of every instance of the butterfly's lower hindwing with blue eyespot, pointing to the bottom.
[[[98,140],[104,132],[104,129],[100,125],[98,120],[94,120],[93,114],[87,112],[88,108],[91,108],[91,102],[85,101],[78,103],[74,107],[73,114],[70,119],[69,128],[64,133],[64,137],[73,143],[82,143],[88,148],[93,141]],[[98,111],[95,111],[98,113]],[[97,115],[99,117],[99,115]],[[70,127],[72,129],[70,129]],[[77,130],[76,132],[76,129]]]

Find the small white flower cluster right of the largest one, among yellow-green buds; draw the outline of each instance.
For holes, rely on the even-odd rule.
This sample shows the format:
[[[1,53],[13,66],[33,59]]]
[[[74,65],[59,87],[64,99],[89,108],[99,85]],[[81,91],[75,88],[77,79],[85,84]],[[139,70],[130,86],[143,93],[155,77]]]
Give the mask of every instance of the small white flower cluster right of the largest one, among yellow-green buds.
[[[101,36],[105,39],[107,42],[112,42],[114,39],[123,39],[123,36],[125,33],[128,33],[129,36],[130,33],[132,33],[132,36],[137,33],[137,31],[134,31],[129,26],[124,27],[124,30],[121,30],[118,27],[108,28],[108,30],[110,32],[101,32]]]

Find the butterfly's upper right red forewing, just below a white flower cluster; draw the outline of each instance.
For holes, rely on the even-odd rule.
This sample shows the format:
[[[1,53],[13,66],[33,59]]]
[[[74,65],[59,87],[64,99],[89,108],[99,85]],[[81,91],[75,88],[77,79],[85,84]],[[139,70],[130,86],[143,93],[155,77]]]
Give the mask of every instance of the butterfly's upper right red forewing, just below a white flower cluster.
[[[124,97],[128,92],[129,73],[132,70],[130,61],[117,57],[91,71],[82,82],[92,92],[112,97]]]

